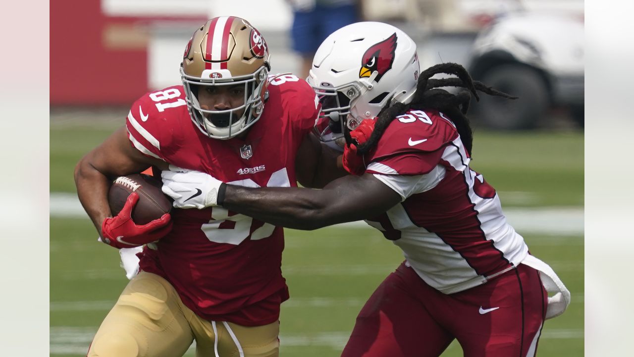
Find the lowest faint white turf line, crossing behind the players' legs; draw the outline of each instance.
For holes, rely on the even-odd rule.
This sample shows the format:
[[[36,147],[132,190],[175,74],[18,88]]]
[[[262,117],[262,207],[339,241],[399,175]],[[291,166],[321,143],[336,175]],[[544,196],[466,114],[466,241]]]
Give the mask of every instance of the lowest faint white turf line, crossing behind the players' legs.
[[[86,354],[88,344],[93,339],[96,328],[86,327],[51,327],[50,351],[51,354]],[[583,329],[567,329],[546,327],[541,333],[540,339],[569,340],[583,339]],[[283,333],[280,335],[281,348],[299,346],[329,346],[342,349],[348,337],[349,331],[333,331],[319,333]],[[193,349],[190,347],[190,350]]]

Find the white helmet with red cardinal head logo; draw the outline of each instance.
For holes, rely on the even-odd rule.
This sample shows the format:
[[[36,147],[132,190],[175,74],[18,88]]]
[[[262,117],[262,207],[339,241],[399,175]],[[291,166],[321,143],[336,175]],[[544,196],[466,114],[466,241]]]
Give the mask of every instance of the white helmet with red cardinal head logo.
[[[315,130],[323,141],[374,118],[388,100],[408,104],[418,81],[416,44],[382,22],[357,22],[321,43],[306,79],[320,97]]]

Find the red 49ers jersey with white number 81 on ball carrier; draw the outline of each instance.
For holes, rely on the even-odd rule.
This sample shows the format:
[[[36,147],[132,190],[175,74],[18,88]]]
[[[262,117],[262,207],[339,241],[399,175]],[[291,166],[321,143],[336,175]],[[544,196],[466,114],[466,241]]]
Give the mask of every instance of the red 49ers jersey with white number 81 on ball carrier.
[[[273,79],[262,116],[245,138],[217,140],[190,118],[183,86],[148,93],[127,117],[131,144],[171,165],[248,187],[295,183],[295,153],[318,115],[313,89],[302,79]],[[183,303],[208,320],[254,326],[278,320],[288,299],[281,276],[283,230],[222,207],[172,210],[172,232],[140,256]]]

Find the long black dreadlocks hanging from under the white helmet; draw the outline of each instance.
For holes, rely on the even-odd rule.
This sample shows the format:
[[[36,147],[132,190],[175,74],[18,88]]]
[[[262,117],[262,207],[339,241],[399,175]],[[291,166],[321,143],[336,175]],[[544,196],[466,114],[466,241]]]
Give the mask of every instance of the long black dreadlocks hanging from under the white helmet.
[[[453,74],[456,77],[444,79],[430,78],[440,73]],[[466,88],[467,90],[461,90],[456,94],[452,94],[449,91],[440,89],[441,87],[458,87]],[[474,81],[471,79],[465,67],[459,64],[437,64],[425,69],[418,77],[416,92],[410,104],[396,102],[391,105],[392,101],[387,101],[385,107],[378,113],[377,122],[375,123],[372,135],[370,135],[368,141],[359,145],[358,154],[363,155],[370,152],[370,150],[377,145],[378,140],[392,120],[410,109],[436,109],[437,111],[448,114],[451,121],[456,125],[458,134],[460,134],[460,138],[463,144],[465,144],[467,152],[471,154],[473,147],[473,130],[471,129],[469,118],[467,118],[465,114],[467,114],[469,110],[471,95],[475,97],[475,100],[480,100],[477,91],[496,97],[517,99],[517,97],[485,86],[479,81]],[[346,135],[346,139],[348,140],[350,134],[346,132],[344,135]]]

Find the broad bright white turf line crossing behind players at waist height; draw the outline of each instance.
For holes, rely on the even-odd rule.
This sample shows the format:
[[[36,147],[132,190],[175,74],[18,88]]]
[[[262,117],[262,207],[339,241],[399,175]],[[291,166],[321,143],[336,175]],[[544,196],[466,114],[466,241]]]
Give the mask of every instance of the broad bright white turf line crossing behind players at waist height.
[[[51,192],[51,217],[86,218],[86,212],[77,195],[68,192]],[[517,232],[541,232],[548,234],[583,234],[583,207],[565,208],[506,208],[508,222]],[[337,224],[340,228],[372,229],[365,222]]]

